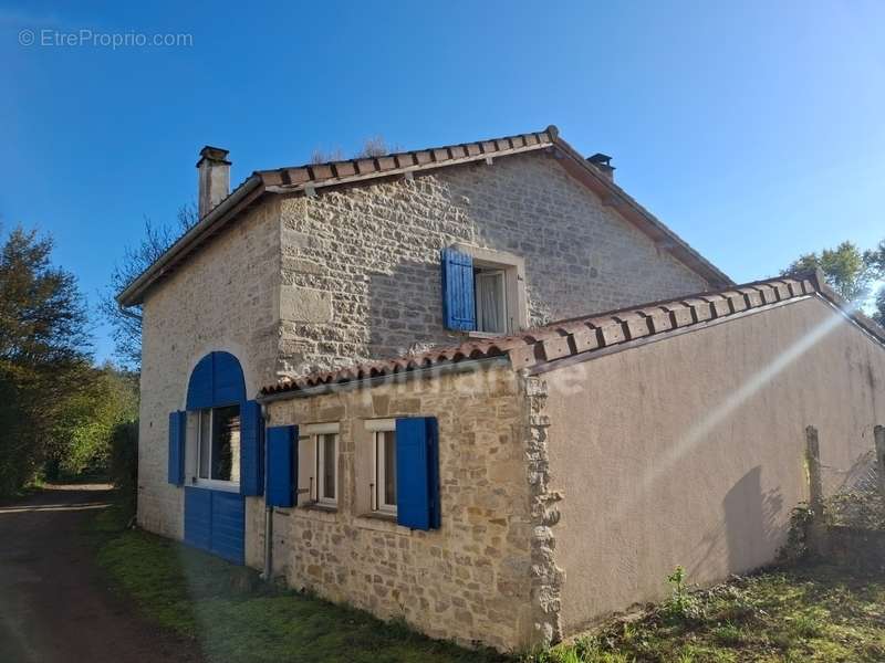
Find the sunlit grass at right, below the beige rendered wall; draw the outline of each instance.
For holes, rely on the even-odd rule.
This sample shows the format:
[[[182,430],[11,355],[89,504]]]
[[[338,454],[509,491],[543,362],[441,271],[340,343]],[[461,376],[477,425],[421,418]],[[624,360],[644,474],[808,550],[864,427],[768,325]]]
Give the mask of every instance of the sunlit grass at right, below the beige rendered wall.
[[[827,565],[774,569],[690,594],[527,656],[538,663],[885,661],[885,577]]]

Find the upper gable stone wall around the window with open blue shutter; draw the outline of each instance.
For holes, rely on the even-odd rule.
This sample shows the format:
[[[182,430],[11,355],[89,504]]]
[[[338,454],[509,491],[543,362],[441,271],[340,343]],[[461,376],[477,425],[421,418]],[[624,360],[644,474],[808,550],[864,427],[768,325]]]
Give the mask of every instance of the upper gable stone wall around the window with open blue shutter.
[[[530,325],[700,292],[706,282],[546,154],[281,203],[281,373],[460,343],[442,325],[439,250],[525,261]]]

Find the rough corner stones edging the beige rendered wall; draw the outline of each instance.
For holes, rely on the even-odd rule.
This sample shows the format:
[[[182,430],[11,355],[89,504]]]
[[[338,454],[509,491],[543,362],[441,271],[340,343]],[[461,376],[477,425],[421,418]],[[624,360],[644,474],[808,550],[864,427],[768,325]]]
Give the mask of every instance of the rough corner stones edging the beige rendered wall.
[[[553,527],[560,520],[556,504],[562,493],[550,490],[550,462],[545,413],[548,385],[541,378],[522,376],[527,400],[525,460],[531,513],[532,638],[542,644],[562,639],[562,585],[565,571],[556,566]]]

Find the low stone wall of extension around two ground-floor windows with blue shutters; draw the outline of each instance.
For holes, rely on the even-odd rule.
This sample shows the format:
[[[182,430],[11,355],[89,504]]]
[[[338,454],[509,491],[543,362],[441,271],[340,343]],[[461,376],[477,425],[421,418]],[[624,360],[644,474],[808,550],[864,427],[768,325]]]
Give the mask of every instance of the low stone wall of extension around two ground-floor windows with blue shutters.
[[[269,425],[341,425],[337,509],[278,509],[274,572],[434,638],[502,650],[537,639],[524,403],[509,368],[269,403]],[[365,420],[409,415],[439,421],[437,530],[365,515]]]

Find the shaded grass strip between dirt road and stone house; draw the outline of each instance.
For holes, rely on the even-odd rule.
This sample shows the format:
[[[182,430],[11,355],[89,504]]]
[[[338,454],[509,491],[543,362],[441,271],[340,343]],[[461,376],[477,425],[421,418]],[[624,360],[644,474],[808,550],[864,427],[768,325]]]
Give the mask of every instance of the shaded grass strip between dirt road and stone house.
[[[424,638],[403,624],[298,592],[269,588],[250,569],[138,530],[119,509],[92,524],[98,561],[113,585],[160,625],[197,640],[225,663],[500,661]]]

